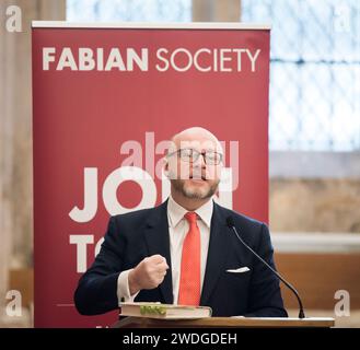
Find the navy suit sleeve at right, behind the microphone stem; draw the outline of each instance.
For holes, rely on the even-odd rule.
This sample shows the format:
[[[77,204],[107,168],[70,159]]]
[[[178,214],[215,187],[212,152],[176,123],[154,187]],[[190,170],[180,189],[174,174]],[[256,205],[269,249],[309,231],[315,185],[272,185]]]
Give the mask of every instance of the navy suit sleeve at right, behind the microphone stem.
[[[262,224],[256,253],[274,269],[274,248],[269,230]],[[246,317],[288,317],[283,308],[279,279],[254,256],[254,271],[251,281],[249,303]]]

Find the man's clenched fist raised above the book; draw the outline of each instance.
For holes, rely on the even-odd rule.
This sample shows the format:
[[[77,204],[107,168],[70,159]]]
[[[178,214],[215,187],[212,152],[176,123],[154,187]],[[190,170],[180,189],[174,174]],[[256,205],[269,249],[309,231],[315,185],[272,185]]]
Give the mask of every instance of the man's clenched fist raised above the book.
[[[130,294],[141,289],[156,288],[164,280],[167,269],[166,259],[159,254],[144,258],[129,272]]]

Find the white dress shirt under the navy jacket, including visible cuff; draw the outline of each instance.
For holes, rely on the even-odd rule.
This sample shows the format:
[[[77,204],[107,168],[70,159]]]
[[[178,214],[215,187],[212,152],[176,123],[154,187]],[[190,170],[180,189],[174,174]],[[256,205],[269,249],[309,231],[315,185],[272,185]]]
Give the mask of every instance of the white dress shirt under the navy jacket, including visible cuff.
[[[200,288],[202,290],[206,261],[208,257],[208,247],[210,241],[210,223],[213,211],[213,200],[210,198],[204,206],[195,210],[198,215],[197,225],[200,231]],[[169,221],[169,235],[170,235],[170,256],[172,262],[172,277],[173,277],[173,298],[174,304],[177,304],[178,289],[179,289],[179,275],[182,266],[182,253],[183,244],[187,232],[189,231],[189,224],[184,215],[187,210],[179,206],[172,196],[167,201],[167,221]],[[169,264],[169,261],[167,261]],[[123,271],[118,277],[117,298],[120,302],[124,298],[125,302],[132,302],[138,293],[130,295],[128,275],[130,270]]]

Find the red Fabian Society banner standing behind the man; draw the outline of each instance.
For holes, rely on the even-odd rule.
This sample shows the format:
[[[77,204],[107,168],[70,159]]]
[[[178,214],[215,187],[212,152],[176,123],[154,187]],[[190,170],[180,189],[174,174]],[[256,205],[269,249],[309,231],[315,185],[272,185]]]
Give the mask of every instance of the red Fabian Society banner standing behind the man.
[[[32,39],[36,327],[116,322],[79,315],[74,289],[109,215],[167,198],[185,128],[222,141],[216,200],[268,221],[268,26],[33,22]]]

